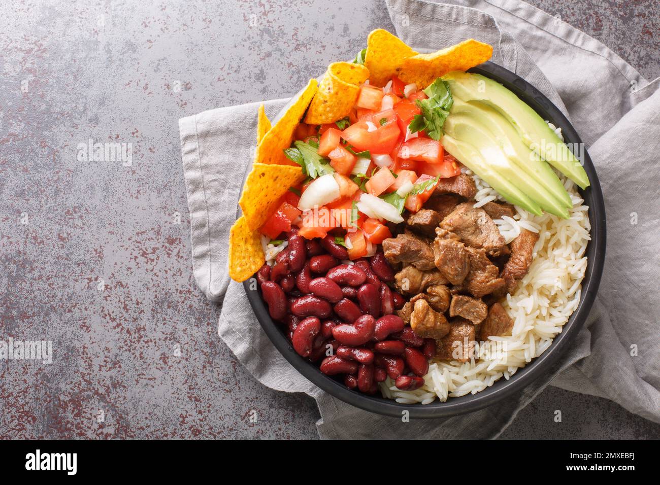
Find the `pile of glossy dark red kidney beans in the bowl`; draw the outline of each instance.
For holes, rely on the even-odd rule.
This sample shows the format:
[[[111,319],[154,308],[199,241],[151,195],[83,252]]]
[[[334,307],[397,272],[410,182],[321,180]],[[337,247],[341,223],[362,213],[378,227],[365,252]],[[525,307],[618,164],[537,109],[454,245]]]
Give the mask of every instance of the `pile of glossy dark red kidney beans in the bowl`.
[[[391,290],[394,271],[381,251],[353,265],[332,236],[305,240],[294,228],[273,267],[257,272],[273,320],[284,326],[300,356],[349,389],[378,391],[387,376],[403,391],[418,389],[435,353],[395,315],[405,304]]]

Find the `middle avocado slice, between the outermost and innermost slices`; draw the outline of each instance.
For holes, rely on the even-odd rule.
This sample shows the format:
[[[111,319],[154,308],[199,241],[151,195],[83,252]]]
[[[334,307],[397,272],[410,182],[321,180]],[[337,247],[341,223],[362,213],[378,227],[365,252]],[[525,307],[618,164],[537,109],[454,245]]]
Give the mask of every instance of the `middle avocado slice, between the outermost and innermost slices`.
[[[458,114],[471,117],[475,122],[479,122],[484,129],[490,131],[496,143],[504,150],[504,153],[524,172],[521,176],[525,176],[526,174],[540,185],[542,189],[545,189],[545,191],[552,195],[552,199],[548,199],[548,204],[556,206],[558,212],[561,214],[566,212],[561,209],[562,207],[566,209],[573,207],[570,195],[568,195],[564,185],[552,168],[521,141],[517,131],[515,131],[508,119],[502,116],[500,112],[482,102],[466,103],[458,98],[454,98],[453,106],[451,107],[451,116]],[[513,182],[515,183],[515,180]],[[555,214],[552,210],[546,209],[539,198],[534,197],[533,194],[529,195],[541,204],[543,209]],[[546,195],[541,197],[547,199]]]

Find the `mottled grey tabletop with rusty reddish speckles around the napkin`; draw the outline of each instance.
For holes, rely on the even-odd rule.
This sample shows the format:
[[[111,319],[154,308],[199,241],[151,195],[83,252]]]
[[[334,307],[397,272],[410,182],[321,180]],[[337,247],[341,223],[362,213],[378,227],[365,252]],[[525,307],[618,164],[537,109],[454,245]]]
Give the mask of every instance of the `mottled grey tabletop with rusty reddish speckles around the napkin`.
[[[532,3],[660,74],[656,2]],[[52,340],[55,355],[0,360],[0,437],[317,436],[312,399],[263,387],[216,336],[191,272],[177,120],[288,96],[381,26],[378,0],[3,4],[0,340]],[[130,143],[130,166],[79,160],[90,139]],[[550,387],[504,434],[540,436],[660,426]]]

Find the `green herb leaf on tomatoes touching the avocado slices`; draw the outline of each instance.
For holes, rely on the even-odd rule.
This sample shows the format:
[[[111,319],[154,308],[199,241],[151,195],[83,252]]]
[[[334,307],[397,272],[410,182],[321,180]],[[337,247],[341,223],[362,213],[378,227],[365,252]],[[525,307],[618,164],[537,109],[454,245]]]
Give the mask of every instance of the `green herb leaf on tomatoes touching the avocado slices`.
[[[453,105],[449,83],[438,78],[424,89],[424,94],[428,96],[428,99],[415,102],[422,113],[414,115],[408,129],[411,133],[425,129],[426,135],[434,140],[440,140],[442,125],[449,116],[449,110]]]

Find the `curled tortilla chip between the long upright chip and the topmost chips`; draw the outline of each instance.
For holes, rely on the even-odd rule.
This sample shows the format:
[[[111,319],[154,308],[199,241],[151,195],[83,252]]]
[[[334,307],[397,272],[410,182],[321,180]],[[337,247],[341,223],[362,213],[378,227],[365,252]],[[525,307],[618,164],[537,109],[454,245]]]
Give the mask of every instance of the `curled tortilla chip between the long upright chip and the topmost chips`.
[[[334,123],[347,116],[358,99],[360,84],[367,79],[369,69],[362,64],[335,62],[329,65],[307,111],[305,123]]]

